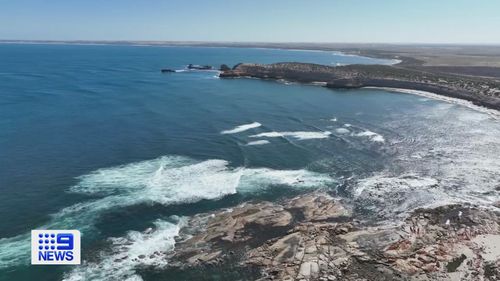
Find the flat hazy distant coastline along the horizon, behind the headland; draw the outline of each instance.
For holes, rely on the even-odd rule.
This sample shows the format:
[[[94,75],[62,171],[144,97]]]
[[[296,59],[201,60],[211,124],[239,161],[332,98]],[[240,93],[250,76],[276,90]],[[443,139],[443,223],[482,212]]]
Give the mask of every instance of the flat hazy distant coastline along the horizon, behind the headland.
[[[326,51],[394,60],[399,67],[500,81],[500,45],[138,40],[6,40],[0,44],[123,45]]]

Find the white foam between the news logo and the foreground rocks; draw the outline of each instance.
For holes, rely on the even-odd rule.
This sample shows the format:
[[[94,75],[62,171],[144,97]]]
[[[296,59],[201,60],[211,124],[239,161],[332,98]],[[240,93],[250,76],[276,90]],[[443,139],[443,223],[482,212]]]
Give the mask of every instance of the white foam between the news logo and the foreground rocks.
[[[142,280],[136,269],[142,266],[164,267],[167,253],[175,246],[175,237],[184,221],[157,220],[154,230],[129,231],[124,237],[110,238],[111,248],[102,251],[98,262],[85,263],[67,273],[65,281]]]

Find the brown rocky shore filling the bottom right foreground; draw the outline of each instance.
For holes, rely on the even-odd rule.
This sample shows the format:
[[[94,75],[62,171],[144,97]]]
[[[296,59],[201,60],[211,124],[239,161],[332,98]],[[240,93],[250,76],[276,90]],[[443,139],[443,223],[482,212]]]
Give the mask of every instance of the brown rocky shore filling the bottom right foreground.
[[[242,280],[500,280],[500,214],[447,205],[378,225],[311,193],[196,215],[168,258],[177,271],[259,273]]]

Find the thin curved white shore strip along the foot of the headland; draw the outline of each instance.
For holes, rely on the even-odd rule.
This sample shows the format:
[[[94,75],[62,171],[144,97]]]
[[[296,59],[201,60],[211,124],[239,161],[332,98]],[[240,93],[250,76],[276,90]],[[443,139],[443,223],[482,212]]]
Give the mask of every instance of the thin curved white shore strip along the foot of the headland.
[[[396,92],[396,93],[403,93],[403,94],[412,94],[412,95],[417,95],[417,96],[422,96],[434,100],[440,100],[452,104],[457,104],[461,106],[465,106],[467,108],[470,108],[475,111],[479,111],[482,113],[486,113],[490,115],[494,119],[500,119],[500,111],[487,108],[484,106],[480,105],[475,105],[471,101],[459,99],[459,98],[452,98],[452,97],[447,97],[443,95],[438,95],[432,92],[426,92],[426,91],[420,91],[420,90],[410,90],[410,89],[403,89],[403,88],[390,88],[390,87],[363,87],[364,89],[380,89],[380,90],[385,90],[389,92]]]

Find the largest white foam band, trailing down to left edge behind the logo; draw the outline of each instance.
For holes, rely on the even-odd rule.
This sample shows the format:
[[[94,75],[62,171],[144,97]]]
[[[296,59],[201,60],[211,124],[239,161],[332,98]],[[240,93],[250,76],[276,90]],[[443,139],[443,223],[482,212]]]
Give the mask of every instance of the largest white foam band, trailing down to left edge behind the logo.
[[[165,156],[96,170],[78,178],[70,191],[99,199],[66,207],[41,228],[78,228],[87,232],[104,212],[138,204],[178,204],[218,199],[228,194],[259,192],[269,187],[322,187],[327,175],[307,170],[230,167],[224,160],[195,161]],[[29,233],[0,239],[0,268],[29,262]]]

